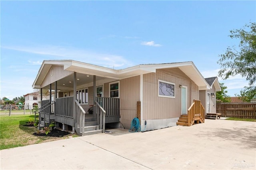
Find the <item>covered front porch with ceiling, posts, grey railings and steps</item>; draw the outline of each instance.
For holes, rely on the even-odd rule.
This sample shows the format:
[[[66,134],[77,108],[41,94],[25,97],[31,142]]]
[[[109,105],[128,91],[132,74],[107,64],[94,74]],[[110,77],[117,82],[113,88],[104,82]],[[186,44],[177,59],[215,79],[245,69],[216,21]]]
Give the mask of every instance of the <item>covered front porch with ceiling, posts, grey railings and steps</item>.
[[[74,72],[41,88],[41,97],[46,95],[47,100],[40,102],[39,128],[55,122],[63,130],[71,126],[73,132],[83,136],[104,132],[106,124],[118,127],[120,99],[103,97],[108,95],[104,84],[114,80]]]

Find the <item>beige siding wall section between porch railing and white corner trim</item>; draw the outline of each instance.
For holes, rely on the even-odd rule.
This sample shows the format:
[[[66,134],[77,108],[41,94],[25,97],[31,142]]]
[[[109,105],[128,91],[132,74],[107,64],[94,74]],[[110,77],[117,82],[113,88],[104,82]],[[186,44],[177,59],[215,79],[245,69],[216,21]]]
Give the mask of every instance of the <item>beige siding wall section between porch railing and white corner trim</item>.
[[[132,120],[137,115],[137,101],[140,101],[140,76],[120,80],[120,117]]]

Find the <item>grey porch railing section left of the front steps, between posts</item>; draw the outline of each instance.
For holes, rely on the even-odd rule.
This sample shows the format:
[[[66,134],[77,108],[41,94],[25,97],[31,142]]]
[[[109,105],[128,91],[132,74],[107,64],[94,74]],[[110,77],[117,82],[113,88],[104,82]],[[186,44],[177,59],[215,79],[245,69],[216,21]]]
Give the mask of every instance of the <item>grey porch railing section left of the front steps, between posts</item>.
[[[55,115],[73,118],[73,99],[73,96],[55,99]]]

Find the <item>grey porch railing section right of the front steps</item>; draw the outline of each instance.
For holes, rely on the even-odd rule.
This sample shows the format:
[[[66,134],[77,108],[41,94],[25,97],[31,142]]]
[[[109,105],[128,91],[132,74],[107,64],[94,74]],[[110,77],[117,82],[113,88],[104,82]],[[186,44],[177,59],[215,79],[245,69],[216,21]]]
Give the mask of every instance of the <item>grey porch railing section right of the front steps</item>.
[[[96,101],[106,111],[106,117],[120,115],[120,99],[109,97],[96,97]]]

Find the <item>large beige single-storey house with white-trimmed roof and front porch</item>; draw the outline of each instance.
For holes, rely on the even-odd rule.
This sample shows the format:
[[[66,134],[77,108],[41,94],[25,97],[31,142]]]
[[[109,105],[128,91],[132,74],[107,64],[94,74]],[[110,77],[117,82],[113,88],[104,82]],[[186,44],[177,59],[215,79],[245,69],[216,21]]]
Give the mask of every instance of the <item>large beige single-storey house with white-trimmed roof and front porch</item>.
[[[32,86],[47,95],[41,106],[52,108],[47,112],[42,107],[41,126],[55,121],[82,135],[83,116],[85,126],[102,125],[99,115],[104,111],[106,126],[129,129],[136,117],[145,131],[176,126],[193,100],[199,100],[200,91],[211,90],[192,61],[116,70],[74,60],[45,60]]]

